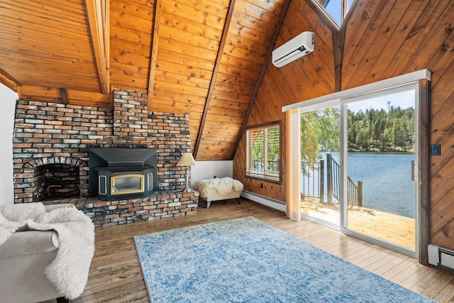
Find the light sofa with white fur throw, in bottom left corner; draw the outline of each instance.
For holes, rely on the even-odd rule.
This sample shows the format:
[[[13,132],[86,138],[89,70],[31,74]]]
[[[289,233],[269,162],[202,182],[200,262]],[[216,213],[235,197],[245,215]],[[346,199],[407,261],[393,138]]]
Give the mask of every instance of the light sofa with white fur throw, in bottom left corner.
[[[0,205],[0,302],[79,297],[93,254],[94,225],[74,205]]]

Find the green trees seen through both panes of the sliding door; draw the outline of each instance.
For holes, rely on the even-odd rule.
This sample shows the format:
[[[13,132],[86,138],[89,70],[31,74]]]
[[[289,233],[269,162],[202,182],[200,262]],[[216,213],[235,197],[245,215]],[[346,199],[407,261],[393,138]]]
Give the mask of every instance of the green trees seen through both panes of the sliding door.
[[[388,102],[387,109],[348,110],[348,151],[414,152],[414,108]],[[338,106],[301,113],[301,160],[316,161],[320,151],[338,152]]]

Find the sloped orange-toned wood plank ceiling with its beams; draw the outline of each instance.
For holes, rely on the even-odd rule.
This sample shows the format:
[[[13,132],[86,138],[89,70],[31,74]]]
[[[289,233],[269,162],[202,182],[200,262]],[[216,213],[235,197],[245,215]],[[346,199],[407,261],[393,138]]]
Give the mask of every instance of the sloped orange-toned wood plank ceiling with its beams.
[[[1,0],[0,82],[94,107],[112,88],[148,92],[150,111],[189,114],[196,160],[231,160],[288,4]]]

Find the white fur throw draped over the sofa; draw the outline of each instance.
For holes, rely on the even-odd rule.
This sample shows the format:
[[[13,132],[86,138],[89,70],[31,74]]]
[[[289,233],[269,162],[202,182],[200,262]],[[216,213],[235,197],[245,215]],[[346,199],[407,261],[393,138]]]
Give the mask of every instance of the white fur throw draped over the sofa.
[[[45,275],[67,299],[75,299],[87,284],[94,254],[94,224],[82,211],[57,208],[45,211],[42,203],[0,206],[0,245],[18,228],[55,230],[60,247]]]

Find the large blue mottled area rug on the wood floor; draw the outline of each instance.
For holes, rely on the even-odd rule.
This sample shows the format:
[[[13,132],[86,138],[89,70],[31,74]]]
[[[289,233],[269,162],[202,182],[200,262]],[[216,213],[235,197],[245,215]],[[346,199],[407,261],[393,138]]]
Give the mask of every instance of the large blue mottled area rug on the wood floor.
[[[152,303],[433,302],[252,216],[134,240]]]

